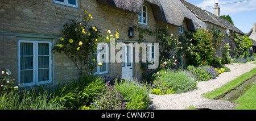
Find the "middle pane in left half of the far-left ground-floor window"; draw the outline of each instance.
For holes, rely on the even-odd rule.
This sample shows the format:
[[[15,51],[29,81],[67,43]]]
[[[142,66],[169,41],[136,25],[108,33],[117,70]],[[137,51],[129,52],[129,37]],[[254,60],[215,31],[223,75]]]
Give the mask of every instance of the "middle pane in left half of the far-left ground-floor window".
[[[33,57],[20,57],[20,70],[33,69]]]

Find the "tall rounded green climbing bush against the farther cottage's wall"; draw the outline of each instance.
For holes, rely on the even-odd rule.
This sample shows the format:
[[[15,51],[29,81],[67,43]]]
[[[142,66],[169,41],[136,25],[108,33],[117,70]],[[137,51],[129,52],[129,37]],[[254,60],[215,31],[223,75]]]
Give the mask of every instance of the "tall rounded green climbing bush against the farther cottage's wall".
[[[188,65],[198,66],[203,63],[203,60],[208,63],[213,59],[212,55],[216,49],[213,48],[213,34],[209,30],[202,28],[189,33],[187,37],[189,39],[186,52]]]

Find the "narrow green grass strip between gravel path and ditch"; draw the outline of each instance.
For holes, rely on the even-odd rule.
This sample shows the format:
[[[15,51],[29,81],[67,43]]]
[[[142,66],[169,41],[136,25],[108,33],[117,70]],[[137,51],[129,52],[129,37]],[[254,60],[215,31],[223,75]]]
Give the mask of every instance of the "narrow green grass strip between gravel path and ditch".
[[[228,84],[226,84],[216,90],[213,90],[213,91],[203,94],[202,97],[208,98],[208,99],[217,99],[217,98],[221,97],[223,94],[228,93],[230,90],[241,85],[248,78],[253,77],[255,75],[255,73],[256,73],[256,68],[251,69],[250,72],[242,74],[241,76],[237,77],[236,79],[230,81]]]

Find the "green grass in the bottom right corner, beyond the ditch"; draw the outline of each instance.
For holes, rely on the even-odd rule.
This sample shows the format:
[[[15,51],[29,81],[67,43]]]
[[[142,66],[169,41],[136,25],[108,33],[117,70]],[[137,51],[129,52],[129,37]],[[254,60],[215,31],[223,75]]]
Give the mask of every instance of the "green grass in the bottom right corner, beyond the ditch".
[[[256,110],[256,85],[253,85],[250,90],[246,91],[245,94],[242,95],[236,101],[238,106],[235,110]]]

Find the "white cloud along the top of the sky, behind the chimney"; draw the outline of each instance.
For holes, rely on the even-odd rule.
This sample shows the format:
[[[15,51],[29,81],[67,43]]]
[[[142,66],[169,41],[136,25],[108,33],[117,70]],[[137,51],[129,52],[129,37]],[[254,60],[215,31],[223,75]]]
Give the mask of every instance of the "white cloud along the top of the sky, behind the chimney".
[[[244,1],[244,2],[240,2]],[[220,9],[220,15],[230,15],[235,14],[242,11],[252,11],[256,10],[256,1],[255,0],[204,0],[203,2],[199,3],[198,7],[201,9],[205,9],[209,12],[213,12],[213,7],[215,3],[218,3]],[[205,7],[211,6],[211,7]]]

